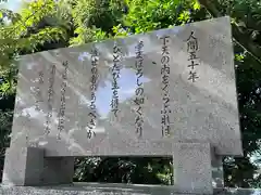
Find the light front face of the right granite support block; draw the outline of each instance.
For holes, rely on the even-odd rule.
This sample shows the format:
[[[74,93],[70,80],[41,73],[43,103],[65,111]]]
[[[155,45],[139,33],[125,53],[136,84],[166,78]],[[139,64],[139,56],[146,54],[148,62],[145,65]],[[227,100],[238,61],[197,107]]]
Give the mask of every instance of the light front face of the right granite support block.
[[[208,143],[176,143],[174,186],[178,193],[213,194],[211,147]]]

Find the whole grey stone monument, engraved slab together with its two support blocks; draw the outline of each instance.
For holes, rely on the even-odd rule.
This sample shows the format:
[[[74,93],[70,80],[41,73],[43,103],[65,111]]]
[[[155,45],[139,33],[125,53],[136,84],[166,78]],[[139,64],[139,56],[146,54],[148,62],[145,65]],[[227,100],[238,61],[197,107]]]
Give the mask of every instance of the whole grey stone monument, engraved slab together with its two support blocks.
[[[173,156],[174,193],[213,193],[243,155],[229,17],[25,55],[3,183],[70,184],[74,157]]]

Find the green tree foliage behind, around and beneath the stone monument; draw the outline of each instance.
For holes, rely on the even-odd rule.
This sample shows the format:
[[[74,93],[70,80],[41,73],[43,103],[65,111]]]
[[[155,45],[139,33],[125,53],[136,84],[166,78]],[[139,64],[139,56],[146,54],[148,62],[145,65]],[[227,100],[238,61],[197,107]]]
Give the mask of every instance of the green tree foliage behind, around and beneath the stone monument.
[[[0,10],[0,166],[8,146],[17,60],[34,52],[125,37],[189,22],[229,15],[244,157],[225,158],[228,186],[258,186],[250,156],[261,138],[261,3],[259,0],[37,0],[20,13]],[[8,22],[7,22],[8,20]],[[75,161],[75,181],[172,183],[171,158],[85,158]]]

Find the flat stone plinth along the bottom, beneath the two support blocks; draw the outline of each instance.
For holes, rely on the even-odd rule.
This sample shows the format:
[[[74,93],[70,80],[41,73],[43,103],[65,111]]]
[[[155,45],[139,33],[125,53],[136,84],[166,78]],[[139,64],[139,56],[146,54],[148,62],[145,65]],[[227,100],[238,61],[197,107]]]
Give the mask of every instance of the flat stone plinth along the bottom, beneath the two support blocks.
[[[0,195],[199,195],[176,193],[173,186],[74,183],[60,186],[5,186],[0,185]],[[261,190],[214,188],[213,195],[256,195]],[[200,194],[202,195],[202,194]],[[208,194],[206,194],[208,195]]]

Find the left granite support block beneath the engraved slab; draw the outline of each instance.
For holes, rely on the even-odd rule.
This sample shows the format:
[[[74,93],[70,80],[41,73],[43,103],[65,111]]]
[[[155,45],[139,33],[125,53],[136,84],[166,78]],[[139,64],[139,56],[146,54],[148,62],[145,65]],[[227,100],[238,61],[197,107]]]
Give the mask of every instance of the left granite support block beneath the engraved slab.
[[[74,157],[45,157],[38,147],[10,147],[5,153],[2,182],[17,186],[73,182]]]

